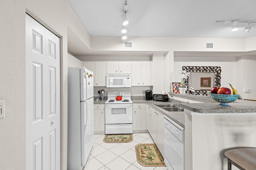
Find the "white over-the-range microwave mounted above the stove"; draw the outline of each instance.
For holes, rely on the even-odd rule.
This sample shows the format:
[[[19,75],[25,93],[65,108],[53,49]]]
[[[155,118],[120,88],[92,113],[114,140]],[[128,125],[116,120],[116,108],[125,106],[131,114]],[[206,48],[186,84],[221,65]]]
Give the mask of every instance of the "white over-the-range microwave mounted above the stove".
[[[106,87],[132,87],[131,74],[107,74]]]

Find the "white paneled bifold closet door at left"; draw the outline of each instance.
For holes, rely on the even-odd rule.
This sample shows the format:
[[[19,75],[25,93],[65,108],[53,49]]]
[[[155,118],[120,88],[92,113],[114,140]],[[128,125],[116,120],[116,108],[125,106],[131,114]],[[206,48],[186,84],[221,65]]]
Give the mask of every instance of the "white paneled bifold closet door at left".
[[[60,170],[60,39],[27,14],[26,169]]]

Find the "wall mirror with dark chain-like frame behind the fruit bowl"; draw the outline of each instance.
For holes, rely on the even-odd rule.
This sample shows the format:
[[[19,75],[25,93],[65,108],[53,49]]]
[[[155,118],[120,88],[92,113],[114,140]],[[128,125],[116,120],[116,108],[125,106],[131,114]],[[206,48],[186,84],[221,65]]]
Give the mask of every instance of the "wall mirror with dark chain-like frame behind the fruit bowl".
[[[190,72],[185,82],[196,94],[206,95],[212,87],[220,87],[221,69],[218,66],[182,66],[182,70]]]

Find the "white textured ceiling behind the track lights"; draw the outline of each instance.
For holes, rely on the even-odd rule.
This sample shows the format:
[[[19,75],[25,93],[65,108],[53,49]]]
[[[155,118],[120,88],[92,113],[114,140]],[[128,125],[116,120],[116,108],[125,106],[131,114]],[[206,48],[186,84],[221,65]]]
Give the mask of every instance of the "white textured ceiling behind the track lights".
[[[68,0],[91,36],[121,36],[122,4],[125,0]],[[256,0],[127,0],[127,36],[131,37],[222,37],[256,36],[239,23],[216,20],[256,21]]]

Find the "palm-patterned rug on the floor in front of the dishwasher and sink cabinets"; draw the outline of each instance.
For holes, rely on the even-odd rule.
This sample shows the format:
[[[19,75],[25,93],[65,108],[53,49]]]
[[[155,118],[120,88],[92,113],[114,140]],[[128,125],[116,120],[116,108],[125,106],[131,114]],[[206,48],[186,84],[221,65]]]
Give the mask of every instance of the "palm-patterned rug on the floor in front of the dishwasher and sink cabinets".
[[[156,144],[145,143],[135,146],[137,161],[142,166],[166,166]]]

